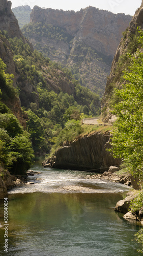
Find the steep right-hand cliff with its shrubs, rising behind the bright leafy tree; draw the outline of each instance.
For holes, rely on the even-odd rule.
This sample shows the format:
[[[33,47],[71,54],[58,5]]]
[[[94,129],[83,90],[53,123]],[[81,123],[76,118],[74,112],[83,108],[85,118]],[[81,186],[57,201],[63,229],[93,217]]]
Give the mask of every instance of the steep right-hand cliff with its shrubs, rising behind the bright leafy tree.
[[[127,51],[132,54],[136,51],[136,29],[140,27],[143,29],[143,1],[140,8],[138,8],[126,29],[123,38],[117,48],[116,54],[112,61],[110,75],[107,78],[106,88],[102,100],[102,115],[105,122],[112,120],[110,114],[111,104],[115,102],[113,99],[113,89],[120,88],[123,81],[123,70],[128,67]]]

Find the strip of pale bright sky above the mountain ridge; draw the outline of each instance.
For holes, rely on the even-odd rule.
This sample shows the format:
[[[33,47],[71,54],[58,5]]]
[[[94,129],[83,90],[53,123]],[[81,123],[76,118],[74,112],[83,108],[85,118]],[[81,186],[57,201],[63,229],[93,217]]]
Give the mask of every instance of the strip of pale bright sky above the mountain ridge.
[[[42,8],[79,11],[81,8],[94,6],[101,10],[130,15],[134,15],[136,9],[141,5],[141,0],[11,0],[11,2],[12,8],[22,5],[29,5],[33,8],[37,5]]]

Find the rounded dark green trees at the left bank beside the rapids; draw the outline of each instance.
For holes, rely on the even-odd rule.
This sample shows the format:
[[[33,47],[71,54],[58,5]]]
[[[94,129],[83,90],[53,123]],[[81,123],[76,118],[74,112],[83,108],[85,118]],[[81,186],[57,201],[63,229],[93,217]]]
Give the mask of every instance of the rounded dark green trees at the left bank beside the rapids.
[[[25,174],[34,157],[29,135],[23,132],[14,115],[1,114],[0,120],[0,162],[12,174]]]

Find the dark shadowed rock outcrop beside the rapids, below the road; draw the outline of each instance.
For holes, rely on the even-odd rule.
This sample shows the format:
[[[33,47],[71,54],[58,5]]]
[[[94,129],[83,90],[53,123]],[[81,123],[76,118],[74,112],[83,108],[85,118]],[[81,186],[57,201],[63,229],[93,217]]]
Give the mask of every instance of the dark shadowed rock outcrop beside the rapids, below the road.
[[[106,151],[110,147],[110,134],[95,133],[73,141],[60,148],[55,157],[43,163],[45,167],[93,170],[103,173],[110,165],[120,165],[120,159],[112,158]],[[49,165],[50,164],[50,165]]]

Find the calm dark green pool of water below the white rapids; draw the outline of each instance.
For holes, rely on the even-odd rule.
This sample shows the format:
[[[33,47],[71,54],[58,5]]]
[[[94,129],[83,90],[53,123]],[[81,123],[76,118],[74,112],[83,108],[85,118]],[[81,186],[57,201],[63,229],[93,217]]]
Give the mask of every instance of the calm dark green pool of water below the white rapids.
[[[131,241],[139,227],[112,209],[121,199],[103,193],[10,195],[7,255],[139,255]]]

